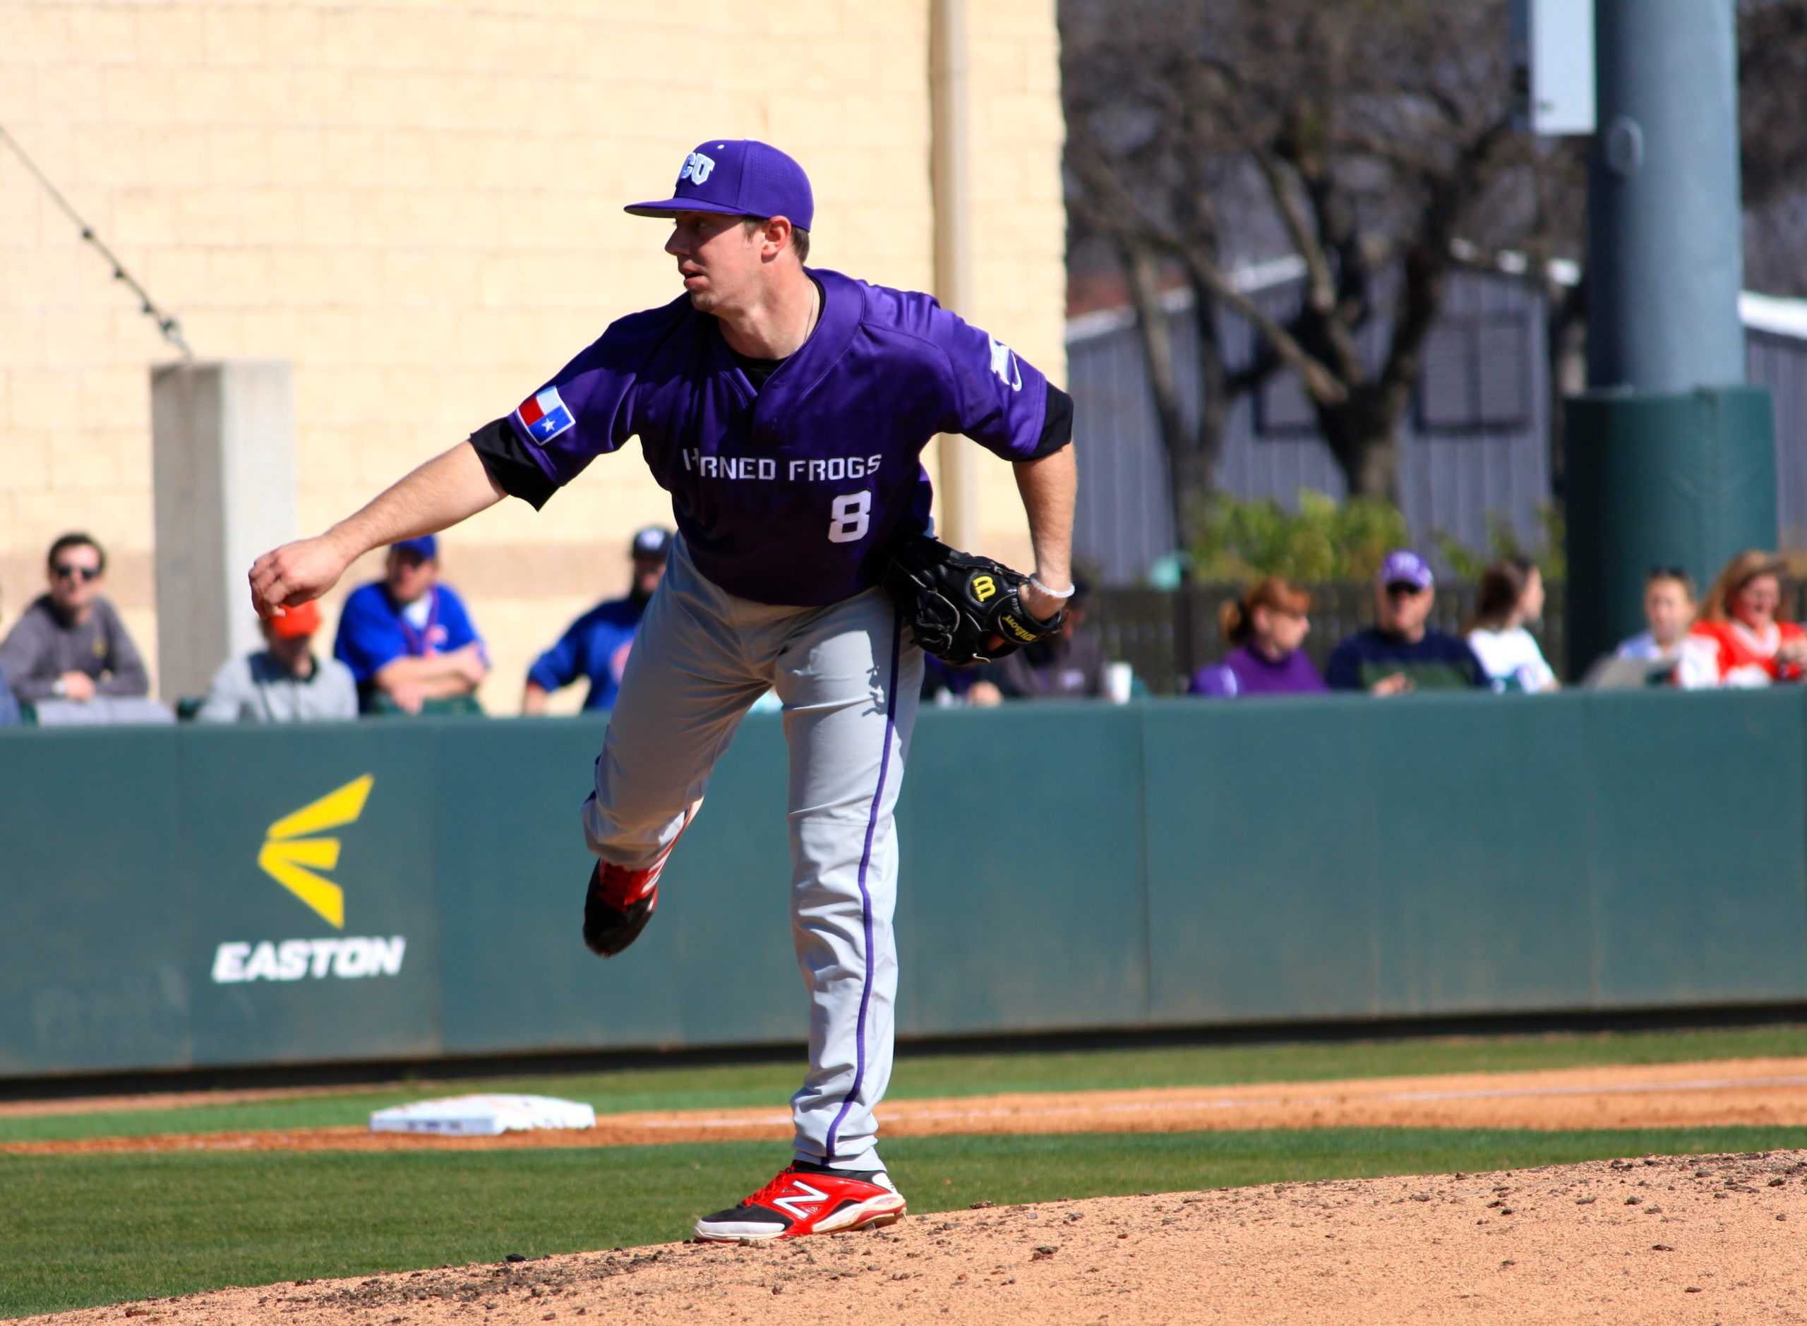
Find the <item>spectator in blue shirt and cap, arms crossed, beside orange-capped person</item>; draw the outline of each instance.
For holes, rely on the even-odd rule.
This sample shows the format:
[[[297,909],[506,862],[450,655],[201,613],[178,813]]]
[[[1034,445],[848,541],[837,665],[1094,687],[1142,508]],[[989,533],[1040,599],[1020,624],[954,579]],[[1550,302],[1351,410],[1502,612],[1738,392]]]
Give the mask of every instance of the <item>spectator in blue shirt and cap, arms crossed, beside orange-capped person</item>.
[[[423,535],[389,546],[383,578],[345,600],[332,658],[358,679],[365,714],[419,714],[428,701],[475,703],[490,656],[464,602],[439,584],[439,540]]]

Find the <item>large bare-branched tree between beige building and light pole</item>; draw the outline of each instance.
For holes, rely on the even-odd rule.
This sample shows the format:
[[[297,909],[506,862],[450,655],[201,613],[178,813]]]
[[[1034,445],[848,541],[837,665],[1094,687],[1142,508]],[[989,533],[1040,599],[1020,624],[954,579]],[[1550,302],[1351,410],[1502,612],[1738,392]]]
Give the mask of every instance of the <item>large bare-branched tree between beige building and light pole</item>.
[[[1348,490],[1397,500],[1399,425],[1451,242],[1480,220],[1496,231],[1489,240],[1521,238],[1532,220],[1507,188],[1536,157],[1512,132],[1503,33],[1503,0],[1063,5],[1075,229],[1124,255],[1182,488],[1200,488],[1216,464],[1234,394],[1287,369]],[[1240,201],[1222,188],[1238,179],[1256,182]],[[1232,231],[1263,229],[1305,264],[1290,316],[1240,291],[1225,260]],[[1156,363],[1149,331],[1160,271],[1194,294],[1212,408],[1189,432],[1162,383],[1176,365]],[[1382,307],[1390,336],[1370,361],[1361,331]],[[1222,358],[1225,309],[1261,336],[1250,363]],[[1185,500],[1176,495],[1182,513]]]

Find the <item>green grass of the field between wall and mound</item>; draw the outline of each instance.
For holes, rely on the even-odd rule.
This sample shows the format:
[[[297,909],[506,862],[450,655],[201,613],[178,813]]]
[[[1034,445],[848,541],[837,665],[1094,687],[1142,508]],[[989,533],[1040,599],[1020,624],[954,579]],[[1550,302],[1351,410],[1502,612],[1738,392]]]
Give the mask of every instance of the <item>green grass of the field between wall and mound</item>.
[[[1212,1086],[1409,1073],[1644,1064],[1807,1053],[1764,1028],[1585,1037],[1276,1044],[1218,1050],[936,1055],[898,1064],[896,1095]],[[781,1104],[782,1064],[482,1082],[598,1109]],[[459,1082],[459,1091],[479,1084]],[[352,1093],[257,1106],[0,1120],[0,1138],[356,1124],[426,1095]],[[914,1212],[1245,1183],[1521,1169],[1635,1156],[1807,1147],[1807,1129],[1317,1129],[898,1138],[885,1156]],[[679,1239],[761,1185],[766,1142],[481,1153],[0,1156],[0,1317],[441,1263]]]

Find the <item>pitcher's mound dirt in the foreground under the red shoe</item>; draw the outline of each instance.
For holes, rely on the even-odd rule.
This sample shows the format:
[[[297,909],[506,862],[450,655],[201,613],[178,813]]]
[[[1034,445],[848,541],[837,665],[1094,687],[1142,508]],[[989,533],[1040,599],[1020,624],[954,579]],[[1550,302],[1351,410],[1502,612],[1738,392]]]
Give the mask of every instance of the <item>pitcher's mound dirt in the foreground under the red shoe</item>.
[[[911,1216],[228,1290],[58,1322],[1800,1322],[1807,1153],[1287,1183]]]

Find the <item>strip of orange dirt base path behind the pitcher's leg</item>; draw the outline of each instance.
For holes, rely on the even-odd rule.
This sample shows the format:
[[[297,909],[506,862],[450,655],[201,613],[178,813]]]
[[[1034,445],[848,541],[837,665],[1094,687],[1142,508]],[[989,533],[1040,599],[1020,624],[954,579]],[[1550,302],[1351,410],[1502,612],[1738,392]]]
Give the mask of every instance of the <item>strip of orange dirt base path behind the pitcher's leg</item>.
[[[1690,1127],[1807,1125],[1807,1059],[1565,1068],[1350,1082],[1288,1082],[1151,1091],[1084,1091],[891,1100],[885,1136],[945,1133],[1184,1133],[1256,1127]],[[660,1142],[788,1140],[790,1113],[692,1109],[602,1115],[582,1133],[435,1138],[363,1127],[11,1142],[0,1151],[390,1151],[618,1147]]]

